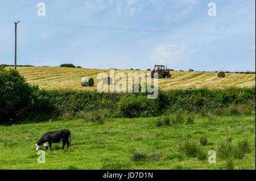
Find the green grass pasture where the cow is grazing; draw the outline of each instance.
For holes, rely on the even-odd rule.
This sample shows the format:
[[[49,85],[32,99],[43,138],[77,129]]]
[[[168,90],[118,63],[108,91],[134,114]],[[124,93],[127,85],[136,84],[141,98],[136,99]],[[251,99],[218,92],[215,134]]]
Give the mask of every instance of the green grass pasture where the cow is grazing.
[[[236,144],[245,138],[250,153],[236,159],[235,169],[255,169],[255,115],[200,116],[193,124],[156,127],[158,117],[105,119],[104,124],[85,120],[59,120],[47,123],[0,126],[0,169],[226,169],[226,159],[218,157],[218,146],[232,138]],[[46,152],[46,163],[37,162],[35,142],[44,132],[70,129],[72,146],[61,150],[54,144]],[[217,163],[188,157],[179,151],[183,141],[208,136],[211,143],[201,146],[217,151]],[[141,150],[158,159],[133,161],[131,150]],[[179,157],[177,157],[179,155]]]

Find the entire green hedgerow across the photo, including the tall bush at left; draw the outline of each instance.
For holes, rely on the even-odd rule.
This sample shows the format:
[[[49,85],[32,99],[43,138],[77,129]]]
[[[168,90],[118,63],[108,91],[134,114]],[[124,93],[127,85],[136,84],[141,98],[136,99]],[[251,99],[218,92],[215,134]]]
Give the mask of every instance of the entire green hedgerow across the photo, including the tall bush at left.
[[[150,117],[164,113],[207,112],[233,104],[255,108],[255,87],[224,90],[159,90],[147,93],[100,93],[84,90],[42,90],[29,85],[15,70],[0,70],[0,124],[44,121],[65,113],[108,110],[110,117]]]

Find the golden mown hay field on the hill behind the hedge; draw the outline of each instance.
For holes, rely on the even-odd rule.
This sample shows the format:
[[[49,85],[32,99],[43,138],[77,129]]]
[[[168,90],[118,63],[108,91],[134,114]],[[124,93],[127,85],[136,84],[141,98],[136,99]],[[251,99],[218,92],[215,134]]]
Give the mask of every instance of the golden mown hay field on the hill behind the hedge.
[[[109,69],[81,69],[59,67],[18,67],[22,74],[32,85],[39,85],[43,89],[76,89],[96,90],[98,73],[107,73]],[[147,73],[150,71],[115,70],[115,73]],[[218,78],[217,73],[171,71],[172,78],[159,79],[159,87],[163,90],[170,89],[224,89],[227,87],[253,87],[255,86],[255,74],[228,73],[225,78]],[[92,77],[93,87],[81,87],[82,77]]]

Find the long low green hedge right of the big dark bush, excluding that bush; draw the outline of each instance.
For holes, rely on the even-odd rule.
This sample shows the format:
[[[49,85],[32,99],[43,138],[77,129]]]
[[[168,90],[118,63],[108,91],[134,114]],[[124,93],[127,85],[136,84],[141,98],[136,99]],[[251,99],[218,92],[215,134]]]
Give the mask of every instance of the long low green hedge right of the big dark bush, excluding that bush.
[[[55,115],[109,110],[112,117],[147,117],[177,111],[198,113],[241,103],[255,107],[255,87],[159,91],[157,99],[147,99],[146,93],[118,94],[82,90],[40,90],[39,95],[55,107]]]

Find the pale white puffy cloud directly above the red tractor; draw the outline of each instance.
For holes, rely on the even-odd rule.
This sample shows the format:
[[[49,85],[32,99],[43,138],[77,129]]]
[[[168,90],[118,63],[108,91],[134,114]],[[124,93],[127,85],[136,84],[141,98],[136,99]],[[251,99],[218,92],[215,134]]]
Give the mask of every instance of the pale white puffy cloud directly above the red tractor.
[[[183,60],[185,48],[177,44],[158,44],[150,53],[152,64],[173,66]]]

